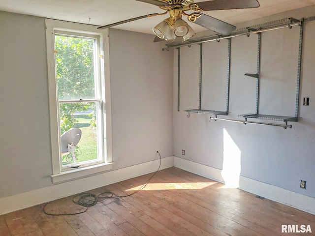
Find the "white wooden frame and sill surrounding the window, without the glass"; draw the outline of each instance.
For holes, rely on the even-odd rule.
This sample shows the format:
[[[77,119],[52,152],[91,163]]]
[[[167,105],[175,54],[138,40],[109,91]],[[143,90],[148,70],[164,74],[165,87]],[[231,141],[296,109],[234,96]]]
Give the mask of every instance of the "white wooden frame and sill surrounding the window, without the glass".
[[[112,129],[111,129],[111,102],[110,102],[110,73],[109,73],[109,40],[108,29],[98,30],[96,26],[84,25],[72,22],[63,22],[45,19],[46,43],[47,43],[47,66],[48,66],[48,88],[49,88],[49,111],[50,111],[50,133],[53,183],[69,181],[81,177],[95,175],[112,169]],[[55,63],[55,30],[60,33],[89,33],[100,37],[100,68],[101,68],[101,92],[105,94],[103,100],[103,130],[104,161],[95,165],[83,166],[78,169],[63,170],[61,164],[61,141],[59,132],[59,103],[57,100],[56,63]]]

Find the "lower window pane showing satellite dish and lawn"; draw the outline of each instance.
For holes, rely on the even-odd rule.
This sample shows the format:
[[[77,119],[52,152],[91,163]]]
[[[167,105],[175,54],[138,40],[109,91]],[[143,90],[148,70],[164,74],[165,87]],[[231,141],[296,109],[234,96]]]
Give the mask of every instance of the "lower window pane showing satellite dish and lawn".
[[[63,166],[73,163],[97,160],[97,118],[98,102],[60,103],[60,130]],[[78,128],[82,135],[77,142],[77,134],[69,130]],[[68,145],[73,145],[74,156]],[[77,144],[76,144],[77,143]],[[71,148],[71,146],[70,146]]]

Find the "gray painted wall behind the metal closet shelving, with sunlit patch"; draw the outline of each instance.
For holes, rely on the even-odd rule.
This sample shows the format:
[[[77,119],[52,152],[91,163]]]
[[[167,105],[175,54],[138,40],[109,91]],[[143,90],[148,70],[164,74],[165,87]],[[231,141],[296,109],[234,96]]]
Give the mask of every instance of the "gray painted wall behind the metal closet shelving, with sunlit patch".
[[[314,16],[315,7],[246,22],[240,27],[287,17]],[[241,176],[315,197],[315,22],[305,24],[299,122],[292,129],[209,120],[184,110],[198,108],[199,45],[181,48],[180,112],[177,111],[177,50],[174,52],[174,155],[220,170],[240,165]],[[299,27],[262,33],[260,114],[295,116]],[[221,45],[221,43],[224,43]],[[227,43],[203,44],[202,109],[225,110]],[[191,57],[191,60],[186,59]],[[231,39],[229,119],[255,113],[257,36]],[[263,122],[263,120],[259,120]],[[185,156],[182,155],[185,149]],[[232,151],[232,153],[229,153]],[[300,180],[307,189],[300,189]]]

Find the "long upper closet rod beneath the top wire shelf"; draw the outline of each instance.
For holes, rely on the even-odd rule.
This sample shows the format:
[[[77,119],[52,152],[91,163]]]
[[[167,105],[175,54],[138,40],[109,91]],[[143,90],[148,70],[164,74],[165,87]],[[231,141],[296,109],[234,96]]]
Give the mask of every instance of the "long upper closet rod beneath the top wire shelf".
[[[291,24],[285,24],[283,26],[277,26],[277,27],[268,28],[268,29],[257,29],[254,31],[248,31],[245,33],[233,34],[233,35],[228,35],[228,36],[224,36],[224,37],[218,36],[218,38],[212,38],[212,39],[208,39],[208,40],[200,40],[200,41],[196,41],[196,42],[187,42],[187,43],[183,43],[183,44],[176,45],[176,46],[166,45],[167,48],[162,48],[162,50],[164,51],[164,50],[167,50],[169,48],[180,48],[180,47],[184,47],[187,45],[200,44],[200,43],[206,43],[206,42],[211,42],[211,41],[218,41],[219,42],[221,39],[234,38],[234,37],[238,37],[238,36],[242,36],[242,35],[248,35],[249,36],[252,33],[260,33],[260,32],[270,31],[270,30],[274,30],[274,29],[283,29],[286,27],[292,28],[293,26],[300,26],[300,25],[301,25],[301,22],[294,22]]]

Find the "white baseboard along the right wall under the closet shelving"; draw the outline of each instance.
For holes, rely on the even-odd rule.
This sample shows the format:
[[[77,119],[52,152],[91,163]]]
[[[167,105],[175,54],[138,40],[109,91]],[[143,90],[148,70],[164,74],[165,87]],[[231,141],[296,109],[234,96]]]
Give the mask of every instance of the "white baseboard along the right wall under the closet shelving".
[[[174,156],[174,166],[224,183],[221,170]],[[240,176],[239,189],[266,199],[315,214],[315,198]]]

